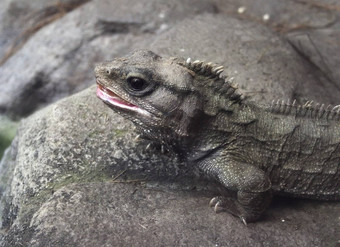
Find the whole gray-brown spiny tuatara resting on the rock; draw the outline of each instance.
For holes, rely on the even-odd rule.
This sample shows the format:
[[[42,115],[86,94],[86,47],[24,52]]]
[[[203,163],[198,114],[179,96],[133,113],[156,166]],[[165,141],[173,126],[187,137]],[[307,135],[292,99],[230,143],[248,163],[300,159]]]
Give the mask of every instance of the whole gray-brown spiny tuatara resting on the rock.
[[[150,51],[96,66],[97,95],[234,196],[210,205],[256,221],[272,193],[340,200],[340,106],[248,102],[222,66]]]

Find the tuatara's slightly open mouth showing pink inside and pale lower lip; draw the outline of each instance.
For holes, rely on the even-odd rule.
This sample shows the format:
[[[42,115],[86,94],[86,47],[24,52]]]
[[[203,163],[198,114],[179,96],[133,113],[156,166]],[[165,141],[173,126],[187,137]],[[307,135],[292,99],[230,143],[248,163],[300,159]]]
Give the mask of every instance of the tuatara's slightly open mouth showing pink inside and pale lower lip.
[[[138,112],[144,115],[149,115],[150,113],[143,110],[137,105],[134,105],[121,97],[119,97],[116,93],[114,93],[112,90],[106,88],[103,86],[99,81],[97,81],[97,96],[103,100],[105,103],[121,108],[121,109],[126,109],[134,112]]]

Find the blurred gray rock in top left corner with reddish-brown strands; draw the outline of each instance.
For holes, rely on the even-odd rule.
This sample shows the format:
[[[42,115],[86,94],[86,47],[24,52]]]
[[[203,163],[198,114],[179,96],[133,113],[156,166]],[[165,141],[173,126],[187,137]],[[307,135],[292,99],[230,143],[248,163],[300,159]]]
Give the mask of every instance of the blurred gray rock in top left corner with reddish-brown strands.
[[[0,3],[0,65],[40,28],[89,0],[4,0]]]

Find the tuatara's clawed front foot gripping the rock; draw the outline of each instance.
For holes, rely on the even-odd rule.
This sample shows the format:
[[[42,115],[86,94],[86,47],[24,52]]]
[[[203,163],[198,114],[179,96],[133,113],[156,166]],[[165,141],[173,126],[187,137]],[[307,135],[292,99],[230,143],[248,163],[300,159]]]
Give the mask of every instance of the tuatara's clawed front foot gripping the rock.
[[[224,211],[230,212],[231,214],[238,216],[243,224],[247,225],[246,218],[237,209],[235,200],[233,198],[215,196],[210,200],[209,206],[214,207],[214,211],[217,214]]]

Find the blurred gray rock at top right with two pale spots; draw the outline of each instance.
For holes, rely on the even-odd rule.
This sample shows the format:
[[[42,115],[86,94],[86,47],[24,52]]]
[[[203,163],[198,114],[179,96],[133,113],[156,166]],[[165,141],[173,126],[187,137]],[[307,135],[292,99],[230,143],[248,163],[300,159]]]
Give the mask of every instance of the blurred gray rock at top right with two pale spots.
[[[320,28],[336,21],[338,0],[213,0],[219,12],[261,23],[275,32]],[[267,19],[264,16],[267,15]]]

